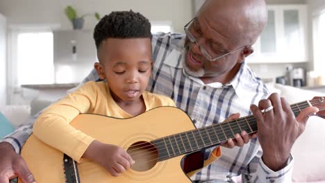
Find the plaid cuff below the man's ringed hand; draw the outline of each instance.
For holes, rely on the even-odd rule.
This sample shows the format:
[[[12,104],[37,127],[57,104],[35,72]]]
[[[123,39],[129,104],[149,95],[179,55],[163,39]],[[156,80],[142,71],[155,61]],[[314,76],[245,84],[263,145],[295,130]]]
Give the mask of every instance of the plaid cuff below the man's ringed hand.
[[[261,157],[262,153],[258,153],[253,157],[249,166],[242,173],[242,182],[292,182],[292,166],[293,159],[290,155],[287,164],[279,171],[272,171],[268,168]]]

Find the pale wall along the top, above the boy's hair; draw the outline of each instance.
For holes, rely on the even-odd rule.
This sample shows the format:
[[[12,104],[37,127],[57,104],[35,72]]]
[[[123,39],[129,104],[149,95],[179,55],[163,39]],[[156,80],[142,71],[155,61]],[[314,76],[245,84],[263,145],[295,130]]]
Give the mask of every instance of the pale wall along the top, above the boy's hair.
[[[71,29],[65,16],[67,5],[78,14],[99,12],[101,16],[112,10],[141,12],[150,21],[172,21],[175,32],[183,32],[183,26],[192,18],[190,0],[1,0],[0,12],[8,18],[8,24],[60,24],[61,29]],[[86,17],[85,28],[93,29],[97,20]]]

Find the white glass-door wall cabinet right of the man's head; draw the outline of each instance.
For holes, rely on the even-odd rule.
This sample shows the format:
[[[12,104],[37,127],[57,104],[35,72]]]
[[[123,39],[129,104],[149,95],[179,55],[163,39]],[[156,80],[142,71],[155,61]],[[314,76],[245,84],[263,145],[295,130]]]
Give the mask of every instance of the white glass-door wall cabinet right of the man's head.
[[[249,63],[307,62],[308,33],[306,5],[268,6],[265,30],[253,45]]]

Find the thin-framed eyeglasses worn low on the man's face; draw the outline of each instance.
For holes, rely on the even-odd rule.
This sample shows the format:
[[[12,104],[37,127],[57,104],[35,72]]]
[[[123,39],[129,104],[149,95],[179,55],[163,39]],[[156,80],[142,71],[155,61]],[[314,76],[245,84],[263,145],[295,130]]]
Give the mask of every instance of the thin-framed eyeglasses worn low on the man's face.
[[[240,49],[244,48],[245,46],[249,46],[249,45],[244,45],[244,46],[240,46],[238,49],[235,49],[233,51],[229,51],[228,53],[224,53],[223,55],[219,55],[216,58],[212,58],[210,56],[210,54],[208,53],[208,51],[206,51],[206,49],[203,49],[203,46],[201,46],[198,42],[197,39],[195,39],[195,37],[190,33],[190,31],[188,30],[188,27],[190,27],[190,24],[192,23],[192,21],[195,19],[195,17],[193,19],[191,19],[190,22],[188,22],[188,24],[186,24],[184,26],[184,30],[186,35],[188,36],[188,39],[190,40],[190,42],[193,42],[195,44],[197,44],[197,46],[199,46],[199,49],[201,51],[201,53],[206,57],[206,59],[208,59],[210,62],[215,62],[215,60],[218,60],[220,58],[223,58],[226,55],[231,55],[233,53],[235,53],[236,51],[239,51]]]

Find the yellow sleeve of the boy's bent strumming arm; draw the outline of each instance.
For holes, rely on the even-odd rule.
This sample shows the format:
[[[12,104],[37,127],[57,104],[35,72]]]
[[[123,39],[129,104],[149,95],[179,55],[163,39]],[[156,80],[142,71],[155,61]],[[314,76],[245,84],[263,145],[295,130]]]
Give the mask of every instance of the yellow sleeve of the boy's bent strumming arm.
[[[78,114],[88,112],[96,104],[94,82],[88,82],[76,92],[48,107],[34,123],[33,133],[38,139],[56,148],[77,162],[94,140],[76,130],[69,123]]]

